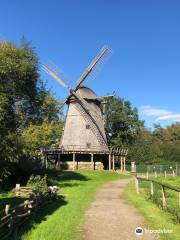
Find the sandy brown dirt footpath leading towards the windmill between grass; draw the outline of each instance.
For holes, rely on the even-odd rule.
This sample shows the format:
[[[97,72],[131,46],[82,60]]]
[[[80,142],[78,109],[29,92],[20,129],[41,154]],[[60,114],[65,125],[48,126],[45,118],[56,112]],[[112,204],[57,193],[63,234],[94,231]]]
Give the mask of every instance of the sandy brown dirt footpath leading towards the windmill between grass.
[[[90,204],[82,229],[81,240],[155,240],[152,234],[135,234],[136,227],[148,228],[142,216],[123,197],[129,180],[105,184]]]

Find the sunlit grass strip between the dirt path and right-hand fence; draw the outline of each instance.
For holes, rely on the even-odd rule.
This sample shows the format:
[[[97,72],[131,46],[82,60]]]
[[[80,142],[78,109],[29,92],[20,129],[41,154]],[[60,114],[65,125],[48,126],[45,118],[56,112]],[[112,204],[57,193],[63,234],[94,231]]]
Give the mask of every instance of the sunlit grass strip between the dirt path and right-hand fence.
[[[150,229],[172,229],[171,234],[160,234],[160,237],[165,240],[179,240],[180,236],[180,224],[176,223],[172,219],[172,215],[159,208],[153,203],[148,196],[144,194],[142,188],[147,187],[147,183],[140,185],[141,194],[136,194],[134,188],[134,182],[130,182],[125,191],[124,195],[133,204],[138,211],[143,215],[149,224]]]

